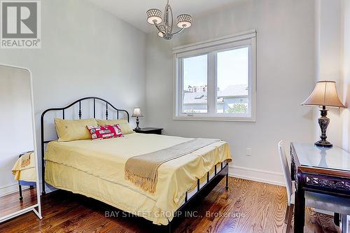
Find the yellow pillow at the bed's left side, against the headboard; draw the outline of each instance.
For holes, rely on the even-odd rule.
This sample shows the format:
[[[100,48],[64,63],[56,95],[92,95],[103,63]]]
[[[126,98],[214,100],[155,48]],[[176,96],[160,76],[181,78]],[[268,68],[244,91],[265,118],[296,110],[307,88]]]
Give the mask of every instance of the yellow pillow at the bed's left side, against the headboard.
[[[58,141],[91,139],[87,125],[97,126],[94,118],[83,120],[62,120],[55,118]]]

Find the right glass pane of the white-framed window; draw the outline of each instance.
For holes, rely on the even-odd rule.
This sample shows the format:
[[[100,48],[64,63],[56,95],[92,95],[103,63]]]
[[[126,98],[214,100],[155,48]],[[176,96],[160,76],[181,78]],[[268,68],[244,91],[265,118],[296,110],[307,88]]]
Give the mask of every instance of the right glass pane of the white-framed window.
[[[248,113],[248,47],[217,53],[217,113]]]

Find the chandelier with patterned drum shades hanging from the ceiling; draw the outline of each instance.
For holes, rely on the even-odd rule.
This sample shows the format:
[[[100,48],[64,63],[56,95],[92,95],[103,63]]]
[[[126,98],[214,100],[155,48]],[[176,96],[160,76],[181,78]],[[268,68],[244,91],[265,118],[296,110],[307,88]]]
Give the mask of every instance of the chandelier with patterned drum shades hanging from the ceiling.
[[[188,14],[181,14],[176,17],[176,25],[179,27],[179,31],[173,33],[174,17],[172,7],[167,0],[165,6],[164,15],[162,17],[162,11],[152,8],[146,11],[147,22],[155,25],[158,30],[158,36],[170,40],[175,34],[180,33],[183,29],[191,27],[192,16]]]

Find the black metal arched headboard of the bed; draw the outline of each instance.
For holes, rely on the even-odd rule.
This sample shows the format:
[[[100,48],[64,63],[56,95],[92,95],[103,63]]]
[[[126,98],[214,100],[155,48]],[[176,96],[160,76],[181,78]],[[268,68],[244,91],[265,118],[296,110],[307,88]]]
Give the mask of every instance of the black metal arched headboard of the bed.
[[[79,104],[79,111],[78,111],[78,117],[79,119],[81,119],[81,116],[82,116],[82,111],[81,111],[81,101],[84,101],[84,100],[87,100],[87,99],[93,99],[93,108],[94,108],[94,118],[96,118],[96,101],[102,101],[104,102],[104,104],[106,104],[106,112],[104,112],[104,114],[106,115],[106,120],[109,119],[109,106],[111,108],[113,108],[116,113],[117,113],[117,119],[119,119],[119,113],[122,112],[122,113],[126,113],[127,115],[127,122],[129,122],[130,120],[130,116],[129,116],[129,113],[124,110],[124,109],[118,109],[116,108],[115,106],[113,106],[109,101],[106,101],[104,99],[101,99],[99,97],[85,97],[83,99],[78,99],[76,101],[73,101],[73,103],[65,106],[65,107],[62,107],[62,108],[49,108],[49,109],[46,109],[45,111],[43,111],[43,113],[41,114],[41,119],[40,119],[40,127],[41,127],[41,177],[43,179],[43,191],[42,191],[42,194],[45,195],[45,162],[44,162],[44,153],[45,153],[45,144],[46,143],[49,143],[50,141],[53,141],[53,140],[48,140],[48,141],[45,141],[45,132],[44,132],[44,118],[45,118],[45,114],[50,112],[50,111],[62,111],[62,118],[64,119],[65,118],[65,110],[67,108],[71,108],[71,106],[74,106],[75,104]]]

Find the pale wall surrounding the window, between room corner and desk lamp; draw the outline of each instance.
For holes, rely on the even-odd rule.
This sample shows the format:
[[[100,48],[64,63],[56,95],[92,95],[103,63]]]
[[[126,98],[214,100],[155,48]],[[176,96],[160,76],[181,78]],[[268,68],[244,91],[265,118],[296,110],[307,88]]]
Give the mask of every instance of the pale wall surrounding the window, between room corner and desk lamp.
[[[300,106],[314,88],[314,17],[314,1],[247,0],[194,15],[193,27],[172,41],[148,34],[148,126],[164,127],[165,134],[221,138],[230,143],[235,174],[283,182],[277,142],[285,140],[288,150],[289,141],[314,141],[312,110]],[[256,122],[172,120],[172,48],[248,29],[258,32]],[[251,157],[246,148],[253,149]]]

